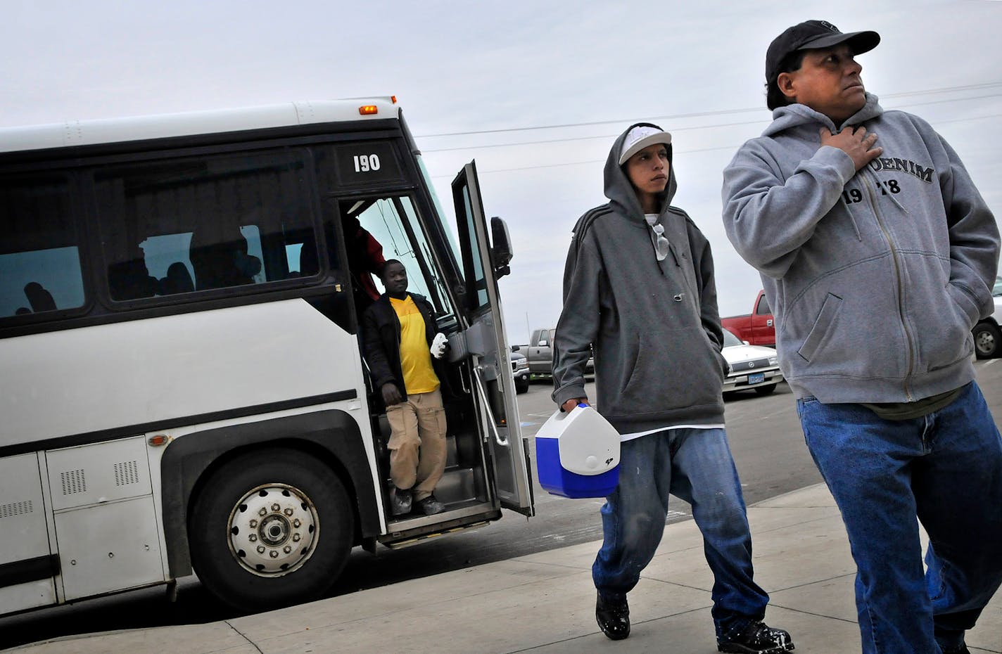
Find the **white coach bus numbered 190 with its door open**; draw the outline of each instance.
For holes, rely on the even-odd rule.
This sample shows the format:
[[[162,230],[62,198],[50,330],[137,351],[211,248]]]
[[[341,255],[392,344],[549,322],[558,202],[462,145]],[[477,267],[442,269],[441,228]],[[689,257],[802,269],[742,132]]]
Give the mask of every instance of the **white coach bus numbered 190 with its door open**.
[[[395,98],[0,130],[0,614],[192,570],[268,609],[532,515],[507,231],[472,163],[452,197],[458,238]],[[356,220],[453,345],[439,515],[388,510]]]

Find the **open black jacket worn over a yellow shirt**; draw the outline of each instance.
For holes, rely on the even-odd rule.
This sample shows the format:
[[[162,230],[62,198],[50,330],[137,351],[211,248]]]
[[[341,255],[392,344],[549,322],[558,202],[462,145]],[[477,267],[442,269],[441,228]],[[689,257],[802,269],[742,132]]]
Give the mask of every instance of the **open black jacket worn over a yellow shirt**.
[[[425,318],[425,340],[431,347],[438,326],[435,324],[435,310],[424,295],[408,293]],[[362,315],[362,348],[372,377],[373,391],[381,400],[379,390],[387,382],[393,382],[400,394],[407,399],[404,385],[404,371],[400,364],[400,318],[390,303],[390,297],[383,293]],[[438,361],[432,358],[432,368],[441,382],[444,377]]]

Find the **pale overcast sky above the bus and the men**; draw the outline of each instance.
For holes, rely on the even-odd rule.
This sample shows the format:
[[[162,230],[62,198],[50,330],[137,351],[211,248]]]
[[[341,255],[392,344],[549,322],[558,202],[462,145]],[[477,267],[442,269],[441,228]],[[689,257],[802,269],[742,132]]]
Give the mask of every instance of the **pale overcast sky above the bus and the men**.
[[[2,0],[0,125],[395,94],[439,195],[476,159],[508,221],[508,338],[556,321],[577,217],[604,202],[615,136],[672,132],[678,192],[709,238],[720,313],[758,273],[720,222],[720,171],[760,134],[765,53],[811,18],[880,32],[861,55],[885,109],[928,119],[1002,216],[1002,2]]]

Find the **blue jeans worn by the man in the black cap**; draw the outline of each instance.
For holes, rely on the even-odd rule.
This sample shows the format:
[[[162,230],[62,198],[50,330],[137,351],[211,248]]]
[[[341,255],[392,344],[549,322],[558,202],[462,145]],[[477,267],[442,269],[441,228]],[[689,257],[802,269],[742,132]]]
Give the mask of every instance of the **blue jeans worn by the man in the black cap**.
[[[846,523],[863,652],[963,644],[1002,583],[1002,438],[977,384],[913,420],[815,398],[797,410]],[[919,521],[930,539],[925,574]]]

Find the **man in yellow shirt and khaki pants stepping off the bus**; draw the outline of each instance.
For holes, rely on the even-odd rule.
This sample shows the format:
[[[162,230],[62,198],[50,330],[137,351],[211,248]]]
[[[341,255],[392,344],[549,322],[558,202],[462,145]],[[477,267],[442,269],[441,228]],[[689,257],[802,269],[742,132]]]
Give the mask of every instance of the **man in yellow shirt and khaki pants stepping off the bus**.
[[[386,292],[363,314],[362,337],[390,423],[391,506],[394,516],[412,508],[431,516],[445,511],[434,494],[445,472],[446,422],[432,354],[440,358],[446,346],[434,338],[431,302],[407,292],[404,264],[389,259],[381,279]]]

